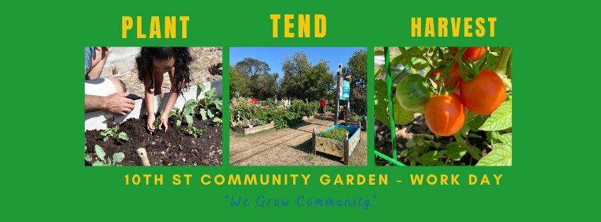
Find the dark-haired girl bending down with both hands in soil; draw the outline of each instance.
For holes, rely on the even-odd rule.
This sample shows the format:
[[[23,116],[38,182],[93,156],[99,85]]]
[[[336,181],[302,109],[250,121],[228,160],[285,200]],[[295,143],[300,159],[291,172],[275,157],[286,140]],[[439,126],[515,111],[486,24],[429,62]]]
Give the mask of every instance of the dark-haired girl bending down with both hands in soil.
[[[157,128],[169,128],[167,120],[169,111],[173,109],[175,101],[182,90],[187,87],[190,80],[189,65],[192,61],[187,47],[142,47],[140,56],[136,58],[138,66],[138,80],[144,84],[144,101],[148,119],[146,128],[150,133]],[[162,94],[163,75],[169,74],[171,89],[165,109],[158,118],[155,116],[155,95]],[[158,121],[158,127],[155,125]]]

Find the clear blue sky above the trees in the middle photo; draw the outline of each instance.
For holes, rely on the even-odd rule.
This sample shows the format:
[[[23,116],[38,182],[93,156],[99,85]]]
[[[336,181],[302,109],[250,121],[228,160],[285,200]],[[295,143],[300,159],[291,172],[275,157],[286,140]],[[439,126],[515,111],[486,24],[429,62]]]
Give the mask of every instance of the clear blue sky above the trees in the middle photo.
[[[343,63],[347,66],[348,59],[352,53],[358,49],[367,49],[365,47],[240,47],[230,48],[230,64],[235,65],[244,58],[255,58],[269,64],[271,73],[280,74],[280,79],[283,78],[282,63],[285,58],[290,58],[296,51],[304,51],[307,54],[311,65],[315,66],[319,59],[325,59],[330,66],[330,72],[335,73],[338,69],[338,63]]]

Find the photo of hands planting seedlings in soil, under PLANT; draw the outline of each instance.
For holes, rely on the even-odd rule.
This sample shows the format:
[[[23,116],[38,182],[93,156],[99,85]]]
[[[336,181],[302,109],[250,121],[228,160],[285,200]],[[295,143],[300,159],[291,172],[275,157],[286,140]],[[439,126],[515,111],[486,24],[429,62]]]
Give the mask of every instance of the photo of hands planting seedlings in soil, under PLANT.
[[[85,166],[221,166],[221,47],[85,47]]]

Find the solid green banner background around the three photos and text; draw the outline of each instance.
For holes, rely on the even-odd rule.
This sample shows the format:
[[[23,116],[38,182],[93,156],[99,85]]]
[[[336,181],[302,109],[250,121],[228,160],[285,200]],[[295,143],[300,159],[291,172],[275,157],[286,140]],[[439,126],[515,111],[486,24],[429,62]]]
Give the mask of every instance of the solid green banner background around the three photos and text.
[[[6,2],[2,18],[2,179],[0,215],[12,220],[397,221],[517,218],[588,219],[598,208],[598,5],[580,1],[212,1]],[[323,13],[322,39],[273,39],[270,13]],[[188,39],[121,39],[121,16],[190,16]],[[410,37],[410,18],[496,17],[496,37]],[[135,28],[135,27],[134,27]],[[281,27],[280,27],[281,28]],[[179,31],[178,31],[179,32]],[[178,34],[179,35],[179,34]],[[280,35],[282,35],[280,33]],[[597,40],[594,40],[597,39]],[[511,167],[121,167],[81,162],[82,48],[85,46],[513,47]],[[593,72],[591,72],[593,70]],[[227,77],[227,66],[224,76]],[[373,78],[369,78],[369,85]],[[227,78],[225,78],[227,83]],[[223,90],[227,92],[227,84]],[[373,95],[369,88],[368,98]],[[227,93],[224,100],[227,101]],[[373,100],[368,111],[373,115]],[[227,108],[227,106],[226,106]],[[78,117],[79,116],[79,117]],[[225,115],[227,116],[227,115]],[[227,120],[224,120],[227,122]],[[373,118],[367,131],[373,135]],[[228,132],[225,130],[225,132]],[[227,138],[227,133],[224,133]],[[368,147],[373,147],[368,136]],[[228,141],[224,140],[224,147]],[[227,148],[224,148],[227,165]],[[387,186],[126,186],[133,173],[388,173]],[[499,186],[411,186],[410,173],[502,173]],[[395,180],[403,180],[397,184]],[[230,207],[225,195],[372,197],[359,208]],[[593,217],[598,218],[598,215]]]

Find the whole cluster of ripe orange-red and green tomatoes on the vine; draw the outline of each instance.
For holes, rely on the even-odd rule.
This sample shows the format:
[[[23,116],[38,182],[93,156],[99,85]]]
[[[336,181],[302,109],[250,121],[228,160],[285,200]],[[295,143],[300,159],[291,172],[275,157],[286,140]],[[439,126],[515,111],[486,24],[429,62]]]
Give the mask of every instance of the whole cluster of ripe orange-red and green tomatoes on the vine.
[[[450,48],[452,56],[458,52]],[[486,47],[468,47],[461,59],[465,63],[475,63],[486,54]],[[444,78],[444,86],[456,93],[434,94],[426,80],[417,74],[407,75],[397,86],[396,98],[404,109],[424,111],[426,125],[436,135],[450,136],[458,132],[465,122],[465,110],[487,116],[493,113],[505,101],[505,85],[499,75],[492,70],[480,70],[475,77],[469,78],[468,71],[454,63]],[[465,80],[462,77],[468,77]],[[432,70],[428,78],[441,83],[442,70]],[[446,92],[446,91],[443,91]]]

